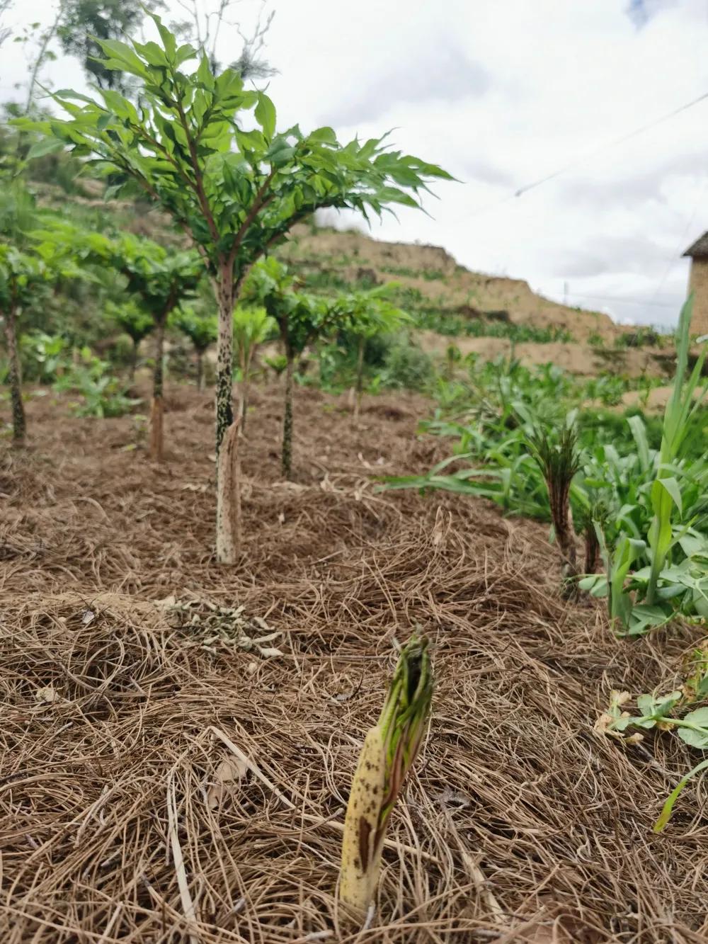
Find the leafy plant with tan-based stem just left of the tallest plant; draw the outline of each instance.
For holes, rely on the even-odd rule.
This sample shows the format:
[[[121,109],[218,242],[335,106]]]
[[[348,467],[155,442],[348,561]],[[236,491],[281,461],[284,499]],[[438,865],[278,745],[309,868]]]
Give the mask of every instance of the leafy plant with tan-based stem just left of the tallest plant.
[[[150,458],[161,462],[164,331],[177,306],[194,296],[204,276],[204,264],[194,250],[175,252],[129,233],[110,239],[94,234],[86,241],[87,261],[108,262],[126,278],[126,291],[154,324],[155,365],[150,410]]]

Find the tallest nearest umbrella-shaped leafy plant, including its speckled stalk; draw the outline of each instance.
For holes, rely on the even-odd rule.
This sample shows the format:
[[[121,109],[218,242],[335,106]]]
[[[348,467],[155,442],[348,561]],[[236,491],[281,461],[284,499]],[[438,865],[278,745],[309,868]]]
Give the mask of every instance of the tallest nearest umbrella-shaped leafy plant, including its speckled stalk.
[[[449,175],[389,149],[383,139],[343,146],[330,127],[303,134],[295,125],[278,133],[267,95],[244,88],[237,69],[215,76],[204,52],[177,45],[160,17],[152,19],[160,43],[99,41],[105,69],[139,79],[139,108],[112,89],[101,91],[102,101],[59,92],[69,118],[25,126],[57,136],[75,155],[97,158],[114,180],[109,196],[137,181],[192,235],[204,257],[219,309],[217,559],[235,563],[238,496],[224,484],[222,466],[234,462],[231,316],[248,269],[319,208],[364,216],[392,204],[417,208],[427,183]],[[194,59],[196,69],[187,71]],[[256,126],[246,130],[248,110]]]

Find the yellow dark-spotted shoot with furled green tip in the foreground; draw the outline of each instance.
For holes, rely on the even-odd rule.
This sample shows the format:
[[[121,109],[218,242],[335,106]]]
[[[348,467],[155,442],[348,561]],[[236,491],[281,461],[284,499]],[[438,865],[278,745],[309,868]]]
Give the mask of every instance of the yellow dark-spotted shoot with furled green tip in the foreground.
[[[339,895],[362,916],[376,897],[386,826],[428,726],[432,669],[428,640],[400,650],[379,721],[363,742],[346,807]]]

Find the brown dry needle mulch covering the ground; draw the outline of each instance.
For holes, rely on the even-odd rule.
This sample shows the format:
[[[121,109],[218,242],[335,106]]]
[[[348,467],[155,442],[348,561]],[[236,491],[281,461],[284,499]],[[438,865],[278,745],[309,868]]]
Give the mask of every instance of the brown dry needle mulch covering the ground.
[[[440,458],[414,435],[424,401],[370,400],[352,430],[298,392],[294,484],[279,392],[253,405],[236,568],[210,552],[209,394],[168,390],[163,465],[125,449],[130,418],[48,397],[32,447],[3,452],[0,939],[706,940],[705,788],[651,833],[685,746],[593,731],[611,688],[670,687],[689,631],[617,641],[560,597],[545,527],[377,495],[372,475]],[[346,796],[416,625],[430,737],[358,932],[333,894]]]

